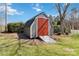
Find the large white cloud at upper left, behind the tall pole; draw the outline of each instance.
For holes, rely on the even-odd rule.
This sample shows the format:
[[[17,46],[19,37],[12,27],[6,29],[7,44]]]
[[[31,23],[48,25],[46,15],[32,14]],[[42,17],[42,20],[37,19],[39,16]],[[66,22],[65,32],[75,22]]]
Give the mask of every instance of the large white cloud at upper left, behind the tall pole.
[[[22,15],[23,11],[18,11],[11,7],[12,4],[7,4],[7,14],[8,15]],[[2,4],[0,5],[0,12],[5,12],[5,6]]]

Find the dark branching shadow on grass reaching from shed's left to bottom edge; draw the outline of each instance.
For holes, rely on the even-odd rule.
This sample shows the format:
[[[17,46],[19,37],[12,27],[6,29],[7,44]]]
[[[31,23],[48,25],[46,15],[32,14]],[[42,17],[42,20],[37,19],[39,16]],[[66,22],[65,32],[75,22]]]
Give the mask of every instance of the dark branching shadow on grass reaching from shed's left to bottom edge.
[[[26,42],[21,43],[21,39],[25,39],[25,40],[29,39],[28,36],[24,35],[24,33],[17,33],[17,35],[18,35],[18,39],[17,39],[18,40],[18,44],[17,44],[18,47],[16,48],[14,53],[10,54],[11,56],[14,56],[14,55],[21,56],[21,54],[18,54],[19,50],[22,48],[21,45],[28,42],[28,41],[26,41]]]

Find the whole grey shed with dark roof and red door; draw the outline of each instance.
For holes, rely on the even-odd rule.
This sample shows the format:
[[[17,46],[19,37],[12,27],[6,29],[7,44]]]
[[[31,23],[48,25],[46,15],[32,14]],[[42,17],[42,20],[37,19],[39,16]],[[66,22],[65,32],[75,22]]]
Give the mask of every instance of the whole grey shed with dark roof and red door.
[[[50,36],[50,19],[44,12],[28,20],[24,25],[24,34],[29,38]]]

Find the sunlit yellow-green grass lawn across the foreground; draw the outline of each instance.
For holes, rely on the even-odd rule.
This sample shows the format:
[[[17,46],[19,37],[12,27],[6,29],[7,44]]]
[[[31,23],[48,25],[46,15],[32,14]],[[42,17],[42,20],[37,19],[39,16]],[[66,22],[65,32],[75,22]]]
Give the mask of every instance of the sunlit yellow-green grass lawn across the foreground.
[[[57,36],[55,44],[28,45],[16,38],[0,36],[0,56],[79,56],[79,34]]]

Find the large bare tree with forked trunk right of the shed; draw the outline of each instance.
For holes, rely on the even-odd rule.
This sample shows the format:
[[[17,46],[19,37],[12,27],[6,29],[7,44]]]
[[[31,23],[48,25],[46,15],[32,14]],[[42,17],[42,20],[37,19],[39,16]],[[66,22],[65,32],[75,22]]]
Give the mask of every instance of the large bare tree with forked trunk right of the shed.
[[[60,18],[60,27],[61,27],[61,34],[64,34],[64,19],[66,16],[66,12],[68,10],[70,3],[65,3],[65,4],[56,4],[56,9],[59,13],[59,18]]]

